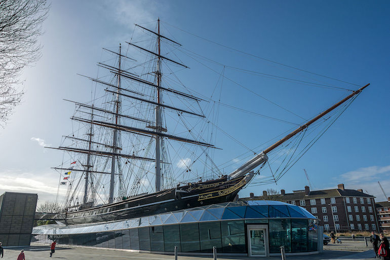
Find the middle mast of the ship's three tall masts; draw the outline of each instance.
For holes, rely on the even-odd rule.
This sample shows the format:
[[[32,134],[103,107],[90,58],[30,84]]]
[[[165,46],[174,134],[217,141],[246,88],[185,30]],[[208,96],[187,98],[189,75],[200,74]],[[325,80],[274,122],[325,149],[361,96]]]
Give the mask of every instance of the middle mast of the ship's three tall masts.
[[[116,100],[115,100],[115,125],[118,125],[119,119],[119,97],[121,89],[121,44],[119,44],[119,67],[118,67],[118,90],[116,91]],[[114,182],[115,182],[115,159],[116,150],[118,142],[118,129],[114,129],[113,140],[112,140],[112,160],[111,160],[111,178],[110,178],[110,195],[108,197],[108,203],[114,201]]]

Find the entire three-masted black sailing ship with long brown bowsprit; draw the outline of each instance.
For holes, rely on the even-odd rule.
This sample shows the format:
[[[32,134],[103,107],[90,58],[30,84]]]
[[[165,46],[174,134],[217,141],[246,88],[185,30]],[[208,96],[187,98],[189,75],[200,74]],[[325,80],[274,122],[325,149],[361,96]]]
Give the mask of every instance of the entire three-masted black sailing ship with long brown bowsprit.
[[[63,211],[56,217],[56,219],[62,219],[61,221],[66,225],[129,219],[233,201],[237,198],[240,190],[246,187],[259,172],[258,170],[255,172],[256,168],[267,162],[269,153],[340,105],[356,97],[369,85],[353,91],[318,116],[299,126],[262,152],[255,154],[252,159],[231,173],[219,174],[217,178],[208,180],[198,178],[197,181],[174,183],[175,179],[171,172],[172,164],[168,161],[167,140],[201,147],[202,154],[206,154],[206,156],[206,150],[216,147],[204,139],[197,140],[168,133],[167,121],[163,120],[165,110],[171,110],[181,118],[185,115],[205,118],[205,115],[193,109],[182,109],[167,104],[163,101],[163,93],[172,94],[179,99],[195,103],[203,99],[164,86],[163,61],[183,68],[187,66],[161,54],[162,40],[176,46],[180,46],[180,44],[160,33],[160,19],[157,23],[157,31],[141,25],[136,26],[154,35],[154,38],[157,39],[154,45],[156,51],[143,48],[134,42],[127,44],[149,55],[148,62],[154,66],[155,70],[138,75],[133,70],[125,68],[124,61],[135,60],[125,55],[121,46],[118,52],[104,49],[113,54],[118,63],[116,66],[106,63],[98,63],[98,65],[109,71],[113,77],[111,81],[99,78],[89,79],[97,85],[106,87],[106,97],[103,98],[103,102],[100,102],[106,107],[96,105],[96,100],[100,97],[95,98],[90,103],[74,102],[78,111],[84,115],[71,118],[83,126],[79,131],[81,136],[76,137],[74,134],[65,136],[65,139],[71,140],[72,143],[56,148],[77,156],[72,167],[68,167],[71,165],[64,166],[64,164],[54,167],[60,173],[66,172],[68,175],[64,177],[68,181],[61,182],[67,185]],[[152,80],[149,80],[150,78]],[[135,83],[135,87],[134,85],[133,88],[124,86],[126,85],[123,83],[124,80]],[[124,99],[131,100],[131,105],[126,109],[123,109]],[[138,111],[137,116],[132,113],[134,109]],[[138,117],[139,115],[143,115],[145,118]],[[131,123],[127,124],[128,122]],[[129,141],[130,144],[124,145],[123,139],[130,140],[129,136],[133,138],[132,141]],[[135,147],[137,144],[141,146],[138,150]],[[129,150],[130,152],[126,152]],[[148,156],[150,154],[153,154],[154,158]],[[72,158],[74,159],[74,157]],[[143,193],[139,187],[144,184],[142,179],[144,175],[150,175],[148,169],[153,168],[153,166],[154,191]],[[188,165],[186,168],[186,172],[191,171]],[[77,174],[79,178],[73,177]],[[126,174],[127,177],[125,177]],[[102,176],[109,177],[108,200],[101,198],[104,196],[101,191],[105,188],[104,183],[100,181]],[[150,185],[150,183],[147,184]],[[77,194],[80,192],[82,192],[83,199],[79,202]],[[97,203],[98,197],[100,197],[100,205]]]

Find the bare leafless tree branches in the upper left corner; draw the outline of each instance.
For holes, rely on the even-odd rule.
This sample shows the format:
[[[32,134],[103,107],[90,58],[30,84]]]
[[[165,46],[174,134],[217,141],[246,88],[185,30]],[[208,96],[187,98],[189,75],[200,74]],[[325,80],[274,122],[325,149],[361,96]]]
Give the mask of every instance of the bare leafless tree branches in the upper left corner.
[[[23,90],[20,73],[41,57],[37,43],[48,16],[47,0],[0,1],[0,126],[5,126]]]

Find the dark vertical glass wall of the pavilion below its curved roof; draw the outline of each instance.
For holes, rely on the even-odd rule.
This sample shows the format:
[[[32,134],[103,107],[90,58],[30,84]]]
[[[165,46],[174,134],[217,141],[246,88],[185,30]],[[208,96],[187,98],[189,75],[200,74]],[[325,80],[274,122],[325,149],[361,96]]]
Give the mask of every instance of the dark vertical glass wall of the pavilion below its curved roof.
[[[279,211],[282,212],[283,209]],[[281,213],[280,213],[281,214]],[[205,221],[72,235],[35,235],[32,242],[145,251],[247,253],[247,225],[268,225],[270,253],[317,251],[317,223],[307,218]]]

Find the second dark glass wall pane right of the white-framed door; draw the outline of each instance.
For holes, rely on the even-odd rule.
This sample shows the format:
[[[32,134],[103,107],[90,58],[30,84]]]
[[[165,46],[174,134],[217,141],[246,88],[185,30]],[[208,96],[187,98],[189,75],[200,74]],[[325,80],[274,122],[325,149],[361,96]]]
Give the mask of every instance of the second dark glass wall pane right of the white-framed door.
[[[291,252],[307,251],[307,219],[291,219]]]

